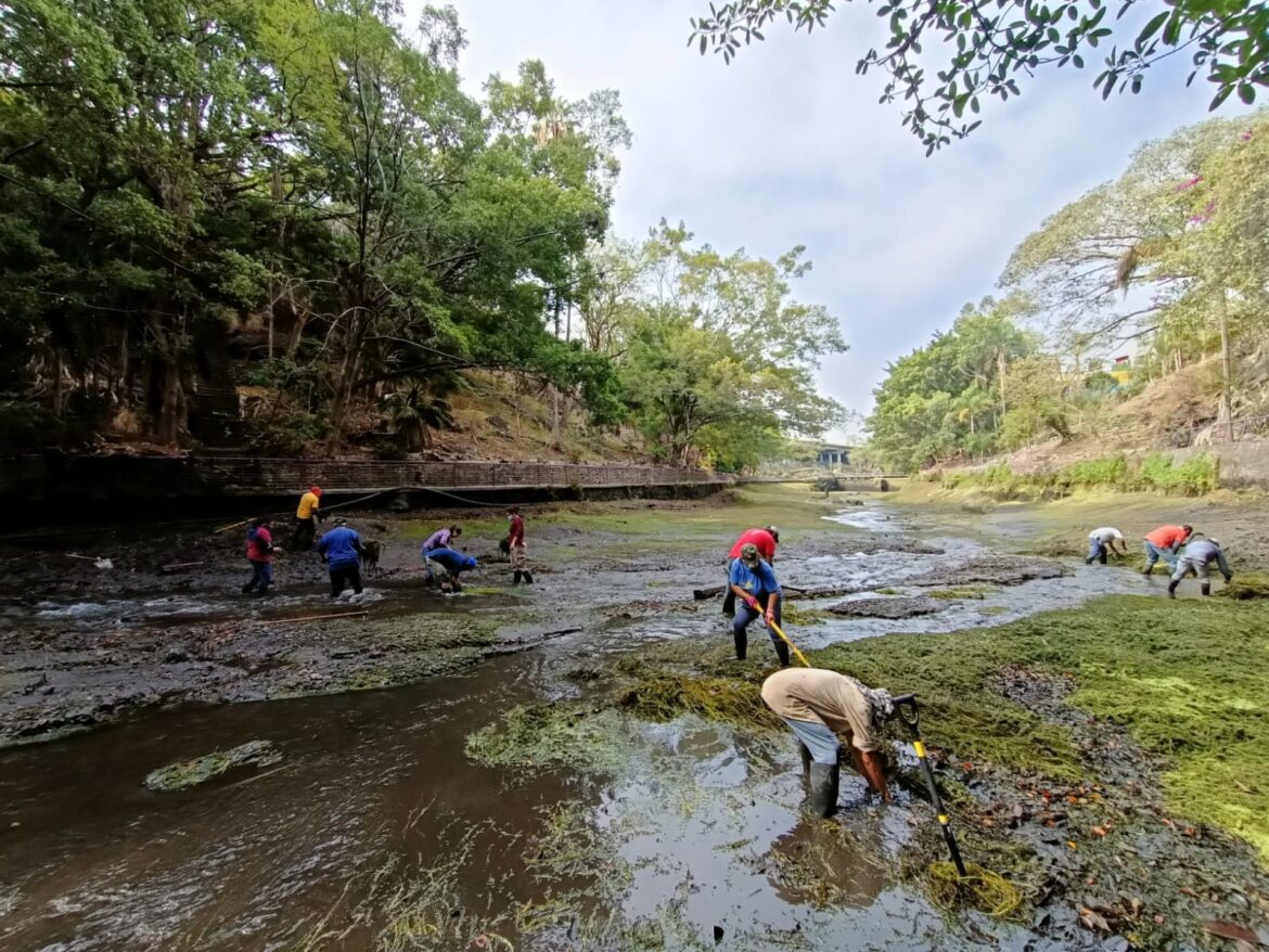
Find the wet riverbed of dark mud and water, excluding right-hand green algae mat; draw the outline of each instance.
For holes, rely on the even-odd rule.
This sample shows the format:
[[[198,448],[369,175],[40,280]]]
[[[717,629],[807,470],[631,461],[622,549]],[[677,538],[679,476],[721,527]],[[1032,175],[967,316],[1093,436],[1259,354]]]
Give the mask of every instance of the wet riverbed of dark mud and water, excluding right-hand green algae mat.
[[[919,796],[881,806],[845,773],[839,820],[808,821],[784,736],[614,707],[610,673],[667,647],[725,655],[718,600],[693,592],[721,583],[737,531],[770,520],[784,528],[782,580],[807,593],[791,593],[787,621],[808,650],[1161,594],[1161,579],[773,487],[731,504],[530,512],[537,584],[514,588],[496,561],[501,522],[459,515],[483,566],[459,597],[418,569],[449,514],[350,514],[385,557],[362,598],[335,604],[303,553],[279,560],[277,594],[239,594],[239,533],[209,527],[0,546],[0,740],[13,745],[0,751],[0,947],[1126,947],[1081,924],[1077,902],[1009,920],[940,909],[909,868],[929,849]],[[202,564],[164,570],[184,562]],[[364,614],[288,621],[344,612]],[[774,661],[763,641],[755,678]],[[1008,689],[1025,693],[1018,679]],[[470,755],[473,734],[543,702],[580,712],[552,757]],[[280,759],[145,786],[156,768],[256,740]],[[1133,782],[1150,782],[1148,764]]]

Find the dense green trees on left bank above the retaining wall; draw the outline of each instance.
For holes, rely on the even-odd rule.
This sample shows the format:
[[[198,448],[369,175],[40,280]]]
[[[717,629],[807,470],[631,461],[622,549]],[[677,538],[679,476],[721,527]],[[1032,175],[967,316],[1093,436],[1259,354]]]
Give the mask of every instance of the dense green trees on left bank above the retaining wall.
[[[612,239],[617,94],[473,98],[464,43],[387,0],[0,0],[0,439],[197,443],[250,393],[258,449],[412,451],[473,368],[678,462],[830,423],[802,250]]]

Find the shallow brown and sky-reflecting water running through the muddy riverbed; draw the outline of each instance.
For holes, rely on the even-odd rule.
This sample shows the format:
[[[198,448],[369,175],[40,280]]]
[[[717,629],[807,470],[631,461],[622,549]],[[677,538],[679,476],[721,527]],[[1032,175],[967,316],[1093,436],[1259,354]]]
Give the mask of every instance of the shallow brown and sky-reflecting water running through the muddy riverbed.
[[[841,520],[888,532],[898,522],[891,517],[878,508]],[[905,533],[919,528],[902,524]],[[904,579],[985,551],[964,538],[925,541],[944,555],[865,556],[843,537],[840,552],[791,557],[779,569],[791,584],[902,592]],[[377,611],[494,612],[514,627],[528,605],[536,625],[576,623],[581,631],[490,660],[467,677],[152,712],[95,734],[0,751],[0,947],[372,948],[386,904],[374,883],[404,886],[424,875],[439,877],[439,908],[450,922],[482,923],[516,948],[586,947],[576,944],[586,928],[579,909],[590,916],[596,943],[642,924],[660,930],[666,948],[713,947],[716,927],[728,948],[975,947],[972,933],[949,930],[900,883],[898,849],[916,825],[931,821],[928,809],[902,796],[892,806],[871,806],[863,781],[846,773],[840,824],[808,823],[797,810],[803,793],[791,741],[760,744],[692,718],[624,720],[617,729],[622,757],[604,773],[510,776],[466,759],[467,734],[510,706],[584,696],[565,677],[579,664],[667,638],[730,640],[717,605],[690,600],[694,586],[717,584],[721,574],[721,561],[709,560],[673,570],[655,560],[599,567],[579,560],[543,572],[536,590],[515,598],[445,600],[382,584],[374,589],[383,599]],[[934,616],[835,618],[791,635],[816,647],[890,631],[948,631],[1138,589],[1150,590],[1150,583],[1079,566],[1071,578],[947,602]],[[161,626],[192,616],[296,616],[315,604],[326,604],[316,590],[282,594],[263,608],[189,593],[10,605],[5,617],[11,626],[70,621],[100,628],[119,618]],[[176,793],[142,786],[151,769],[256,739],[274,741],[282,763]],[[546,876],[533,844],[563,809],[575,824],[567,842],[589,849]],[[438,873],[453,856],[462,857],[457,868]],[[793,861],[830,864],[839,894],[829,905],[817,906],[780,872]],[[376,871],[383,871],[381,880]],[[525,910],[539,911],[534,918]],[[322,922],[331,934],[306,944]],[[1003,948],[1046,948],[1030,933],[991,929]],[[419,947],[468,946],[438,933]]]

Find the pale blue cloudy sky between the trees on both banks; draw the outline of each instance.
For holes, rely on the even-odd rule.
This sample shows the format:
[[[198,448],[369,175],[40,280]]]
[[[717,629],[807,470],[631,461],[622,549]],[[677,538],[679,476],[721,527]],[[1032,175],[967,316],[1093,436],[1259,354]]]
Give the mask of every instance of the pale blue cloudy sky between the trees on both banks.
[[[882,76],[855,61],[883,25],[845,4],[825,30],[780,25],[730,66],[688,48],[704,0],[453,0],[467,33],[463,83],[546,63],[561,95],[617,89],[634,143],[624,152],[613,228],[640,239],[662,217],[698,242],[774,258],[806,245],[794,287],[824,303],[850,349],[825,359],[820,388],[867,414],[891,360],[994,293],[1010,251],[1043,220],[1119,175],[1132,150],[1208,116],[1184,63],[1141,94],[1103,102],[1098,70],[1048,70],[1022,96],[983,104],[968,138],[925,156],[878,104]],[[423,0],[406,0],[418,22]],[[850,432],[830,434],[835,438]]]

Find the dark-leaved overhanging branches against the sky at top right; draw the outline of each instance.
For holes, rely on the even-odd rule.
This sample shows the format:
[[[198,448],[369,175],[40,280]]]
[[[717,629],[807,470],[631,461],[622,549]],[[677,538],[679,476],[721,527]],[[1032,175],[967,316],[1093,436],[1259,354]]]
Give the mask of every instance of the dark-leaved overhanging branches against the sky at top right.
[[[741,44],[761,41],[763,30],[783,20],[794,29],[822,28],[838,0],[731,0],[692,20],[689,43],[713,48],[727,61]],[[1103,98],[1115,90],[1138,91],[1160,60],[1187,52],[1189,81],[1213,85],[1212,108],[1237,94],[1251,103],[1269,85],[1269,6],[1254,0],[1225,3],[1146,3],[1143,0],[881,0],[890,38],[868,50],[857,72],[882,70],[881,102],[902,100],[904,124],[926,152],[972,132],[985,96],[1019,95],[1019,81],[1042,66],[1082,69],[1085,57],[1104,53],[1094,80]],[[942,47],[943,67],[928,69],[925,47]],[[1109,47],[1109,50],[1108,50]]]

